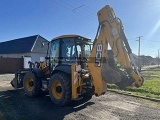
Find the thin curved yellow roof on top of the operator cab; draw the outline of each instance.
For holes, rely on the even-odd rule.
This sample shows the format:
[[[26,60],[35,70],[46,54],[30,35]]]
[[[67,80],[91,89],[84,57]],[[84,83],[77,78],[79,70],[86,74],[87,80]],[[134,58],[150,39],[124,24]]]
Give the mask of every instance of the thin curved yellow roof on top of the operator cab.
[[[61,35],[61,36],[53,38],[52,40],[57,40],[57,39],[62,39],[62,38],[78,38],[78,37],[83,38],[87,41],[91,41],[90,38],[87,38],[87,37],[84,37],[84,36],[81,36],[81,35],[76,35],[76,34]]]

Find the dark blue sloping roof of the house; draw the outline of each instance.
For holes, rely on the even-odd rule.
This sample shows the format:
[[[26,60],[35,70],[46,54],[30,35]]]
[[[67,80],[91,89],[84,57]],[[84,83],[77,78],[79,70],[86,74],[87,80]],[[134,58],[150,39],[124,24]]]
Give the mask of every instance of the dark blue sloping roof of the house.
[[[14,39],[0,43],[0,54],[31,52],[39,35]]]

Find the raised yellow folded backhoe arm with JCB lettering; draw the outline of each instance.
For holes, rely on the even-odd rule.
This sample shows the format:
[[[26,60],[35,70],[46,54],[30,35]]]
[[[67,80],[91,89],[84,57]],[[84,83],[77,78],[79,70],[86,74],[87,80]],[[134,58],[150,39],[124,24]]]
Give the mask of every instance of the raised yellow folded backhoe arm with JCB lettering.
[[[98,12],[98,20],[99,29],[94,40],[90,61],[88,62],[88,68],[95,86],[95,94],[99,96],[106,91],[106,82],[118,83],[123,79],[119,72],[113,71],[108,67],[108,44],[122,68],[126,70],[129,78],[132,79],[135,86],[140,87],[143,84],[143,78],[138,70],[135,72],[132,67],[132,65],[135,67],[135,62],[123,32],[121,21],[115,16],[113,9],[109,5]],[[113,72],[114,74],[112,74]],[[111,80],[105,77],[105,74],[108,74],[108,78],[111,78]]]

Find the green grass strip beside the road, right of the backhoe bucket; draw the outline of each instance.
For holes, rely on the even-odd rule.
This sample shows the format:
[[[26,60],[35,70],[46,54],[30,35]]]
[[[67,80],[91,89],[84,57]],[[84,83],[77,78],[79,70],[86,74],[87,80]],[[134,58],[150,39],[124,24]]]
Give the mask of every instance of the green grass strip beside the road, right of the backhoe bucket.
[[[160,71],[157,70],[149,70],[143,71],[143,74],[147,75],[155,75],[150,77],[144,77],[143,86],[136,87],[127,87],[124,90],[120,90],[116,85],[108,84],[109,89],[118,90],[122,92],[127,92],[133,95],[149,97],[149,98],[158,98],[160,99]]]

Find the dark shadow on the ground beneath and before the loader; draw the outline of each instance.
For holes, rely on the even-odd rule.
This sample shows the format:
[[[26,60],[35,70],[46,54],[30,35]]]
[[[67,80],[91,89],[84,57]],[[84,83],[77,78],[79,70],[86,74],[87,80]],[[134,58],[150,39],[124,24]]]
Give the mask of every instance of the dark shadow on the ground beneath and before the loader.
[[[0,91],[0,112],[7,120],[62,120],[66,115],[94,104],[76,101],[66,107],[54,105],[47,92],[36,98],[28,97],[20,90]]]

